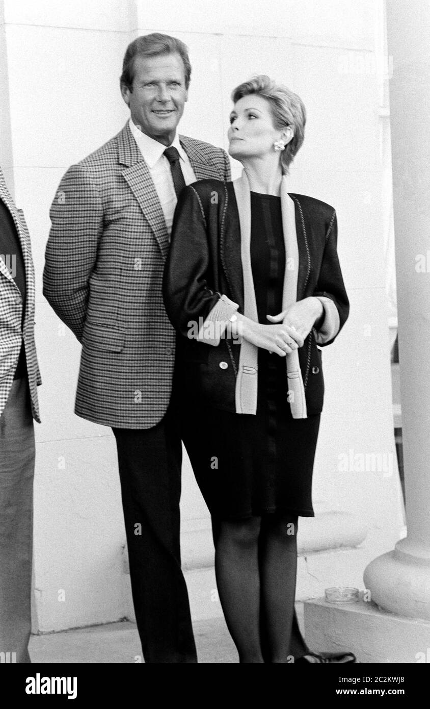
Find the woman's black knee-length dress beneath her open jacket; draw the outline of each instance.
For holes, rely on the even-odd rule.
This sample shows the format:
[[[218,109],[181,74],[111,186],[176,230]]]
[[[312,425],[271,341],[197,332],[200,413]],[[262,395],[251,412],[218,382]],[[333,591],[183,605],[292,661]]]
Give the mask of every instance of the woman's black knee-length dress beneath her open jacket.
[[[259,322],[282,310],[281,198],[251,192],[251,267]],[[293,419],[284,357],[259,350],[256,415],[193,405],[183,440],[200,491],[218,519],[283,510],[313,517],[319,414]]]

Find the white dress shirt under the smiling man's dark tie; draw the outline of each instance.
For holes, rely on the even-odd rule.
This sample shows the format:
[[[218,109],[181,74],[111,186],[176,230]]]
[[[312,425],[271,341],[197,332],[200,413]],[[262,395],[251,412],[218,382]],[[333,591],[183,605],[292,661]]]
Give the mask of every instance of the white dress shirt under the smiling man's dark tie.
[[[129,125],[133,138],[135,138],[137,143],[137,147],[139,147],[142,157],[149,168],[149,174],[152,177],[152,182],[154,182],[154,187],[157,191],[159,201],[162,206],[167,231],[170,234],[177,199],[173,178],[171,177],[170,163],[163,153],[164,150],[166,150],[166,147],[176,147],[176,150],[179,152],[179,164],[181,165],[185,184],[196,182],[196,175],[191,167],[190,159],[185,150],[183,150],[181,143],[179,143],[178,133],[175,133],[175,137],[171,145],[163,145],[162,143],[159,143],[158,140],[149,138],[149,135],[146,135],[146,133],[142,133],[142,131],[139,130],[139,128],[137,128],[132,122],[131,118]]]

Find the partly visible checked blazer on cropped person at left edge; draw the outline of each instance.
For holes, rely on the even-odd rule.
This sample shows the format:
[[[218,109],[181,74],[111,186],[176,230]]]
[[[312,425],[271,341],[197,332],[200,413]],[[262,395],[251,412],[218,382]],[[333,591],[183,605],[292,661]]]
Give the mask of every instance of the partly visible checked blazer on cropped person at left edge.
[[[40,423],[38,404],[38,385],[42,384],[36,355],[34,339],[34,311],[35,311],[35,278],[33,259],[31,257],[30,235],[21,209],[13,203],[9,189],[4,182],[3,172],[0,168],[0,199],[9,209],[15,222],[18,237],[23,251],[24,268],[26,270],[26,310],[23,328],[21,319],[23,301],[20,290],[13,280],[6,263],[0,257],[0,416],[3,413],[9,391],[13,382],[18,356],[21,350],[21,341],[24,339],[26,348],[26,362],[28,384],[30,386],[31,412],[33,418]]]

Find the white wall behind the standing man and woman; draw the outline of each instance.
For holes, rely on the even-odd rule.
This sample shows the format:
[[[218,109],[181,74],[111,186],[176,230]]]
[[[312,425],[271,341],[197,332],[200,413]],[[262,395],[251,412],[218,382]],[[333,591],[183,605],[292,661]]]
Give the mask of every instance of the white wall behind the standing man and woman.
[[[336,207],[351,298],[344,332],[323,352],[327,395],[315,508],[347,511],[366,523],[363,548],[369,559],[397,540],[402,515],[395,462],[390,476],[338,469],[339,454],[350,449],[394,455],[380,84],[366,69],[375,48],[376,5],[374,0],[4,0],[0,86],[2,95],[6,89],[10,94],[16,201],[33,239],[43,375],[43,424],[36,427],[36,629],[117,620],[129,607],[113,436],[73,413],[79,345],[44,300],[41,278],[57,184],[69,164],[122,128],[127,118],[118,87],[123,53],[135,36],[155,30],[178,36],[190,49],[193,74],[182,133],[227,147],[230,92],[250,74],[270,74],[305,101],[307,135],[290,191]],[[186,546],[193,530],[208,527],[189,466],[182,510]],[[299,593],[300,583],[299,578]]]

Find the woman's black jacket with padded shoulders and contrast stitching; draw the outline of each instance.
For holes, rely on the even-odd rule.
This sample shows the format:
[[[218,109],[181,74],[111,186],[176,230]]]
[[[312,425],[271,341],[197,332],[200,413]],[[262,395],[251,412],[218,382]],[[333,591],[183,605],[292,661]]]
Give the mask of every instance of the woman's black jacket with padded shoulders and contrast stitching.
[[[299,251],[297,300],[331,298],[340,331],[349,314],[349,300],[336,252],[336,213],[318,199],[290,197],[295,201]],[[205,179],[188,185],[179,196],[164,269],[164,305],[179,333],[177,362],[186,386],[202,403],[234,412],[240,345],[228,337],[217,347],[188,337],[190,323],[205,320],[222,294],[238,303],[243,313],[239,213],[232,182]],[[313,329],[299,350],[299,360],[307,413],[319,413],[324,379]]]

